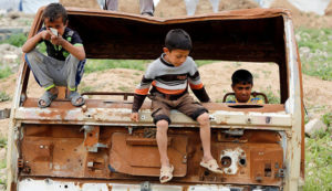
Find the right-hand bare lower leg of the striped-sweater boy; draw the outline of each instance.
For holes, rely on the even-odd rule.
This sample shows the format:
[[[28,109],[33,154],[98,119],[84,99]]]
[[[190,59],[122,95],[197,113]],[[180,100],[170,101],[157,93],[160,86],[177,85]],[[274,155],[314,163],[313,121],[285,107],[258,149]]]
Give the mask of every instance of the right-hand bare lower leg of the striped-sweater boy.
[[[197,117],[197,121],[200,125],[199,134],[204,152],[203,161],[209,161],[214,159],[211,155],[211,128],[209,115],[207,113],[201,114]]]

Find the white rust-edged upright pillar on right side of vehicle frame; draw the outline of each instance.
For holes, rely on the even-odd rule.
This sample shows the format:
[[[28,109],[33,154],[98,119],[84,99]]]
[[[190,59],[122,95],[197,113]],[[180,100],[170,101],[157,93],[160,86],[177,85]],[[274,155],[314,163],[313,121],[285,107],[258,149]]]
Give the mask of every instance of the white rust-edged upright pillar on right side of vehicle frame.
[[[298,190],[300,169],[301,169],[301,146],[303,130],[303,107],[302,107],[302,89],[298,63],[298,51],[295,36],[293,32],[292,21],[286,20],[286,45],[287,45],[287,61],[289,74],[289,98],[286,102],[286,109],[292,114],[292,130],[288,131],[288,148],[287,148],[287,176],[286,176],[286,190]]]

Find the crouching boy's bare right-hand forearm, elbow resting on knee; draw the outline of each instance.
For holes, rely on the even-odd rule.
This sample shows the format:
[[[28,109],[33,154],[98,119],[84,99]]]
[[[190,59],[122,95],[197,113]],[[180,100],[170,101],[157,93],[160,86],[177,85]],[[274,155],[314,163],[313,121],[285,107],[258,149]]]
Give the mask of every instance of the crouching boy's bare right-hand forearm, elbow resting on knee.
[[[64,50],[66,50],[69,53],[71,53],[80,61],[83,61],[85,59],[85,51],[82,44],[80,44],[79,46],[73,45],[66,40],[64,40],[62,36],[56,36],[56,35],[51,36],[51,43],[55,45],[61,45]]]

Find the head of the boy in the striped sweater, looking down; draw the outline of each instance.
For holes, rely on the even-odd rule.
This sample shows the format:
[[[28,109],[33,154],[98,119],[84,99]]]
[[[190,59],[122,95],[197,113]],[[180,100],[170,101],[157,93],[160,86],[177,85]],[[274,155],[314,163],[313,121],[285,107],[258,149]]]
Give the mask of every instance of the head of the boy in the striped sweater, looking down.
[[[191,47],[189,34],[181,29],[174,29],[167,33],[163,50],[166,54],[166,61],[174,66],[179,66],[186,61]]]

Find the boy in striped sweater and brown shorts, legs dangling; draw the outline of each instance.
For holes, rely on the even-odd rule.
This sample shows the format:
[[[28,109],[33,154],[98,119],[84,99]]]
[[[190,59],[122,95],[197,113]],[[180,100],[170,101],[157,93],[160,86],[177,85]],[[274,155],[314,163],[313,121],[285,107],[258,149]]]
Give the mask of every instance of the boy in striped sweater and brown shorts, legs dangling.
[[[208,110],[199,103],[195,103],[188,93],[188,84],[200,102],[209,102],[203,83],[200,82],[197,65],[188,56],[191,50],[191,40],[187,32],[181,29],[170,30],[165,39],[165,47],[162,56],[152,62],[141,84],[136,87],[133,103],[132,120],[138,121],[138,110],[147,96],[151,85],[152,117],[157,126],[157,145],[160,155],[162,183],[173,178],[174,167],[167,157],[167,129],[170,121],[169,110],[177,110],[197,120],[200,125],[200,139],[203,144],[204,157],[201,167],[210,171],[222,173],[217,161],[210,151],[210,123]]]

